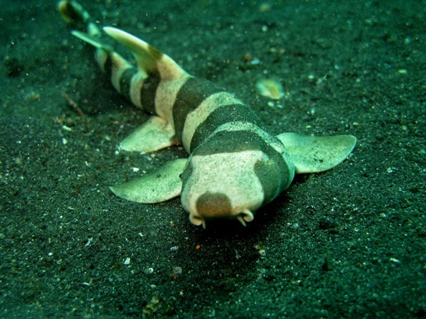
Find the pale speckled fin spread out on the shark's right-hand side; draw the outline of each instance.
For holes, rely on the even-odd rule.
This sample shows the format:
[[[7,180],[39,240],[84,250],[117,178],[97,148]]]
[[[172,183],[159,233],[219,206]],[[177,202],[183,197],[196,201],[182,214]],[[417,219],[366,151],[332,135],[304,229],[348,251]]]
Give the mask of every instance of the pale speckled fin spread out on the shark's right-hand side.
[[[310,136],[282,133],[277,138],[293,159],[296,174],[327,171],[351,154],[357,142],[352,135]]]

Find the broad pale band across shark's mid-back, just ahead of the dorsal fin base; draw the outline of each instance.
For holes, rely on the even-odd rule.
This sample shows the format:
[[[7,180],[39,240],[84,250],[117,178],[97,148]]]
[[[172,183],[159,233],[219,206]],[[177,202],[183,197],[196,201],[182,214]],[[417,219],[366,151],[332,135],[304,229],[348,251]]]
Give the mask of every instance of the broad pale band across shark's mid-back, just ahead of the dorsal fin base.
[[[182,144],[188,154],[191,149],[191,140],[199,125],[217,108],[232,104],[244,105],[244,103],[235,98],[232,94],[228,92],[218,92],[206,97],[195,110],[187,115],[182,132]]]

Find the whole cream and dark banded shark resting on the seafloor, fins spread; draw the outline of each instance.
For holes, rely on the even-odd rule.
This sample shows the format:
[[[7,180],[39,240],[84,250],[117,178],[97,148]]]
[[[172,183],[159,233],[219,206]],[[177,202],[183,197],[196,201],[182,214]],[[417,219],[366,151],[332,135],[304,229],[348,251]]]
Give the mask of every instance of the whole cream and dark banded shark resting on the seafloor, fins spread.
[[[124,151],[153,152],[181,144],[188,159],[176,159],[143,177],[112,186],[124,199],[163,202],[181,195],[194,225],[208,219],[238,219],[243,225],[271,202],[294,174],[326,171],[353,150],[351,135],[314,137],[296,133],[273,136],[242,101],[206,80],[193,77],[166,54],[118,28],[102,29],[75,1],[59,11],[86,28],[72,34],[91,44],[96,60],[111,75],[114,88],[136,107],[155,114],[120,143]],[[105,34],[134,55],[133,66]]]

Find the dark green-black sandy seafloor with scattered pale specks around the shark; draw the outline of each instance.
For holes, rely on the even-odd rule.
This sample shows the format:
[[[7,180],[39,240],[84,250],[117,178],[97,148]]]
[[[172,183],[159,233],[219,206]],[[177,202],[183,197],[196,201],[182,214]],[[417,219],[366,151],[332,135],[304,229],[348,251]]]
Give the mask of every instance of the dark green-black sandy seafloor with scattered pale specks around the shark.
[[[353,134],[353,154],[297,176],[246,228],[196,227],[178,198],[120,199],[109,185],[184,150],[117,152],[148,115],[55,2],[3,3],[0,317],[424,318],[426,2],[152,3],[83,4],[235,93],[273,134]],[[264,77],[286,97],[259,96]]]

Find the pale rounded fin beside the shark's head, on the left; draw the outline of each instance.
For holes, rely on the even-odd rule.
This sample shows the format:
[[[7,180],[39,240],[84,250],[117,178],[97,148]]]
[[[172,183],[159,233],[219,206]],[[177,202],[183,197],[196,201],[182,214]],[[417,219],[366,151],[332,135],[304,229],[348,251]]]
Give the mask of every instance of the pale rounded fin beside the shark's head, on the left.
[[[182,180],[187,159],[175,159],[157,170],[130,182],[111,186],[118,197],[138,203],[158,203],[181,194]]]

